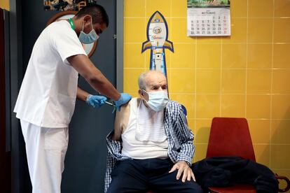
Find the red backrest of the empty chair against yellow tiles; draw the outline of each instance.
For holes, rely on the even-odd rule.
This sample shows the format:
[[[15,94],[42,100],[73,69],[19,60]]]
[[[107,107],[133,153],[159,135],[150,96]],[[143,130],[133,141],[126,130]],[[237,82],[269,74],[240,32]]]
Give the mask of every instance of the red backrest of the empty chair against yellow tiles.
[[[207,157],[240,156],[256,162],[248,122],[245,118],[214,117]]]

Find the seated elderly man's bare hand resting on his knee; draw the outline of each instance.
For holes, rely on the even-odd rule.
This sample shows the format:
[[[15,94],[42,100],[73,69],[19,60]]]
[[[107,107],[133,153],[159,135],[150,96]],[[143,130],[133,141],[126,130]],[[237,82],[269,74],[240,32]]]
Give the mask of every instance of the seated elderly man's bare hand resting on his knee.
[[[183,173],[183,176],[182,176],[183,183],[185,183],[186,179],[190,181],[191,178],[193,178],[193,181],[195,181],[195,176],[193,174],[193,171],[191,170],[191,167],[188,166],[188,164],[185,161],[179,161],[176,164],[174,164],[174,166],[169,171],[169,173],[172,173],[173,171],[176,171],[176,170],[178,170],[177,180],[179,180],[179,178],[181,177],[181,174]]]

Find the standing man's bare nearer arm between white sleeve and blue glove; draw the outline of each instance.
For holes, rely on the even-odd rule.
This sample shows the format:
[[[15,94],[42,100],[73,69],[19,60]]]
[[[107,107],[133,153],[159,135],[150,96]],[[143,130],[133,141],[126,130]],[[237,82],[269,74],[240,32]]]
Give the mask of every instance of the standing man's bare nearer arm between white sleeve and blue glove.
[[[97,69],[86,55],[74,55],[67,58],[71,66],[78,71],[78,73],[87,80],[87,82],[97,92],[108,96],[109,98],[117,101],[120,99],[120,93],[115,87],[104,77],[101,71]],[[84,94],[84,93],[83,93]],[[84,95],[83,95],[84,96]]]

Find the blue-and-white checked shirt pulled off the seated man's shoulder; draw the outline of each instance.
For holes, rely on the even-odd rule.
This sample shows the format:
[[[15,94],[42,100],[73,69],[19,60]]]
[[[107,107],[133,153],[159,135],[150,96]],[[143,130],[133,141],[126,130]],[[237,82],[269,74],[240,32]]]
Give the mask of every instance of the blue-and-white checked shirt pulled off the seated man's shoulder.
[[[170,101],[165,108],[164,120],[165,134],[168,140],[168,156],[172,162],[184,160],[191,164],[195,146],[193,145],[193,133],[189,129],[184,111],[181,105],[175,101]],[[113,131],[106,137],[108,156],[106,162],[105,191],[111,183],[111,171],[117,160],[132,159],[121,154],[122,142],[111,139]]]

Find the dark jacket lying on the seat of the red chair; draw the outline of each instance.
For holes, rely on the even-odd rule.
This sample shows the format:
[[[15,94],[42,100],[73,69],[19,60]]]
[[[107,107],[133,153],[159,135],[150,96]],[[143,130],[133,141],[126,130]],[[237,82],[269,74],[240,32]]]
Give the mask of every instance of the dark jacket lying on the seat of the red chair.
[[[242,183],[254,185],[256,192],[278,192],[278,181],[267,166],[242,157],[207,157],[193,164],[192,169],[204,190]]]

